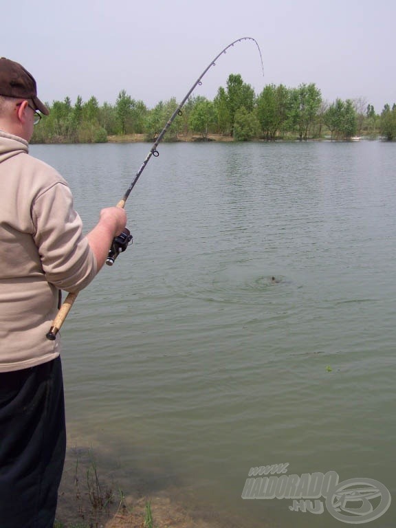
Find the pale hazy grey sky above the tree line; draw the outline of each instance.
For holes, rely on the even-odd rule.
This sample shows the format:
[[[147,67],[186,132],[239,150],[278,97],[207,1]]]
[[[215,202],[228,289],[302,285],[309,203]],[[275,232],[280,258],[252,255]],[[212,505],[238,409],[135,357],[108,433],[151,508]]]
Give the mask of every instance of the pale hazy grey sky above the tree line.
[[[322,97],[396,102],[395,0],[19,0],[1,10],[0,56],[25,66],[47,102],[121,89],[148,107],[181,100],[232,41],[193,95],[212,99],[228,75],[259,94],[269,83],[316,83]]]

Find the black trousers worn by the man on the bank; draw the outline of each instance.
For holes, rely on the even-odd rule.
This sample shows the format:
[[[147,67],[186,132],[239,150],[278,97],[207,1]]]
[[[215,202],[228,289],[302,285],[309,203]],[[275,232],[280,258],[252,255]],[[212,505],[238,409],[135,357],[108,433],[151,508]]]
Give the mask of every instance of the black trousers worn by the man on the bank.
[[[61,358],[0,373],[0,527],[52,528],[65,462]]]

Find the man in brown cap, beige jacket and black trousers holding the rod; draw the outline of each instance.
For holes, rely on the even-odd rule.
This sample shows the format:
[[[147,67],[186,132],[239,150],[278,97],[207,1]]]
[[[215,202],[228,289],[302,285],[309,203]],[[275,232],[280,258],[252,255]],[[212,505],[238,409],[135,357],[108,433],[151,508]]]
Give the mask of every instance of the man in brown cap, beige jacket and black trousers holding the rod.
[[[65,411],[59,337],[45,334],[58,292],[86,287],[126,225],[111,207],[83,235],[66,181],[28,154],[40,113],[34,78],[0,58],[1,528],[54,525]]]

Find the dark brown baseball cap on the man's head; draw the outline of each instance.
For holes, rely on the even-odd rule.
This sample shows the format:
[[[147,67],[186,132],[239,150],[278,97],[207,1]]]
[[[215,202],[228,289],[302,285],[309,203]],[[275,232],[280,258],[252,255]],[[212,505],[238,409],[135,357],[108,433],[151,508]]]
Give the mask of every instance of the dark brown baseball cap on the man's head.
[[[37,97],[36,81],[28,70],[5,57],[0,58],[0,96],[31,99],[41,113],[50,113]]]

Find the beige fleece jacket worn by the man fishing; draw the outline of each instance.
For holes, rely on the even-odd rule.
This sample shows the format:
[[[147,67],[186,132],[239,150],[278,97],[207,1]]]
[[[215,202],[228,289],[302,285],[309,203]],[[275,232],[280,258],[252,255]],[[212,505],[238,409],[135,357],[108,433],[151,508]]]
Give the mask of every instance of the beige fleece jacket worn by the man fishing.
[[[0,372],[56,358],[45,334],[58,290],[78,292],[96,275],[72,192],[28,142],[0,131]]]

